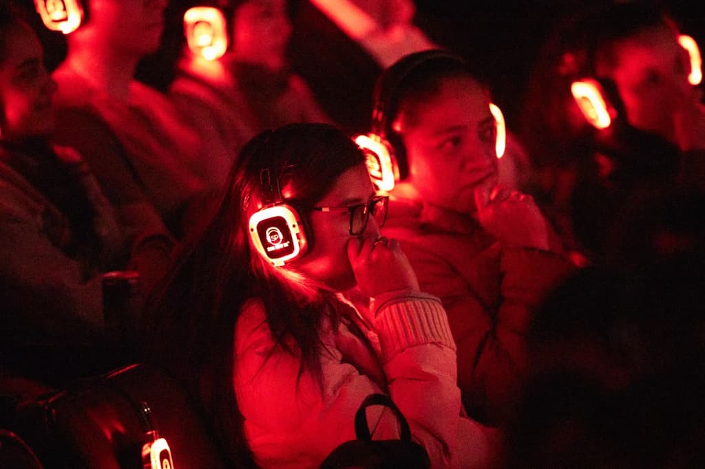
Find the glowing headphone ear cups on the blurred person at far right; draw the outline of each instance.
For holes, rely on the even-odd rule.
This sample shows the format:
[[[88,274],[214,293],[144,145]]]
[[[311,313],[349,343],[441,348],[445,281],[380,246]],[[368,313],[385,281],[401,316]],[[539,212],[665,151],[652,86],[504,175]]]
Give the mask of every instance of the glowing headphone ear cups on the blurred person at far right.
[[[678,44],[688,52],[690,73],[688,82],[697,86],[702,81],[702,59],[697,42],[687,35],[678,36]],[[623,111],[619,94],[608,80],[583,78],[570,85],[570,92],[585,119],[596,129],[604,130],[610,127],[613,120]]]

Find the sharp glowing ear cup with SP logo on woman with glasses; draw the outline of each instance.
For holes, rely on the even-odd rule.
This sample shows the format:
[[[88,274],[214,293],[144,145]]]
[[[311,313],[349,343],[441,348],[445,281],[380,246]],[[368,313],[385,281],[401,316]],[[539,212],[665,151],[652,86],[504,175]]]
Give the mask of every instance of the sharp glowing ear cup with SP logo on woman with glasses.
[[[306,233],[299,213],[283,201],[278,180],[276,189],[272,186],[269,169],[259,173],[259,182],[265,197],[250,216],[250,239],[265,261],[281,267],[306,254]]]

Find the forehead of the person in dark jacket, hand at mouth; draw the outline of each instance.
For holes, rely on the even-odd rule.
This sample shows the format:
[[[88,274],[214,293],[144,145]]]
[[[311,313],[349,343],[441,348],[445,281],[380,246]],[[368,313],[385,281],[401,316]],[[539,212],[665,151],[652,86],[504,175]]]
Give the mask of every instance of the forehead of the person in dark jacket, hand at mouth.
[[[489,94],[471,77],[448,77],[439,89],[399,116],[400,127],[434,133],[451,125],[475,125],[491,117]],[[402,130],[404,131],[404,130]]]

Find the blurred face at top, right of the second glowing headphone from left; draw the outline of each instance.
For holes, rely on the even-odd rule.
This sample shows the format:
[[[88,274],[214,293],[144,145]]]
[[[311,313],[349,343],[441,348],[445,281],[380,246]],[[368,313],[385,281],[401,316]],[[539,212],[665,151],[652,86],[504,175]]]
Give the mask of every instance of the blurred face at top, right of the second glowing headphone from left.
[[[291,35],[286,0],[250,0],[233,16],[233,49],[240,60],[279,68]]]

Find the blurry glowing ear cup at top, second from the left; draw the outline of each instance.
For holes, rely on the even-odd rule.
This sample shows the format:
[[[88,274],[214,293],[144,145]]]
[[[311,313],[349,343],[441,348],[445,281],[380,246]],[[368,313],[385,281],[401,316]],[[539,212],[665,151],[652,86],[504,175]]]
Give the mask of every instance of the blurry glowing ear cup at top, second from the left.
[[[218,8],[195,6],[183,15],[188,48],[207,61],[221,58],[228,50],[226,20]]]

